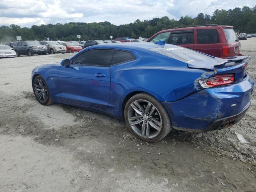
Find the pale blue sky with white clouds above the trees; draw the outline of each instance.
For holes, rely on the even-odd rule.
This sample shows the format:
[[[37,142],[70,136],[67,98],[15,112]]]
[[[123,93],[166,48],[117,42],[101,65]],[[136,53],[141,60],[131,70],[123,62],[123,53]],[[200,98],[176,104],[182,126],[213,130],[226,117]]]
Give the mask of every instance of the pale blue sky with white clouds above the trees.
[[[212,15],[216,9],[256,5],[255,0],[0,0],[0,26],[67,22],[128,24],[136,19]]]

